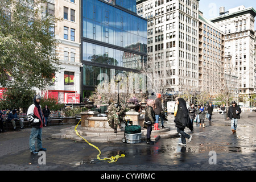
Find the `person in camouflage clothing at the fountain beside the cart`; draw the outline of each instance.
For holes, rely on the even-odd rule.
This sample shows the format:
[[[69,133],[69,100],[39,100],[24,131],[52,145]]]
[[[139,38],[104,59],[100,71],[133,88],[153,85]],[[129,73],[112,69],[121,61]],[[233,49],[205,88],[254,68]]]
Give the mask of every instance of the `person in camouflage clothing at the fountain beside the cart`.
[[[119,125],[120,129],[122,128],[120,122],[123,121],[124,110],[120,105],[112,103],[109,105],[108,111],[109,126],[114,129],[114,133],[117,133],[117,125]]]

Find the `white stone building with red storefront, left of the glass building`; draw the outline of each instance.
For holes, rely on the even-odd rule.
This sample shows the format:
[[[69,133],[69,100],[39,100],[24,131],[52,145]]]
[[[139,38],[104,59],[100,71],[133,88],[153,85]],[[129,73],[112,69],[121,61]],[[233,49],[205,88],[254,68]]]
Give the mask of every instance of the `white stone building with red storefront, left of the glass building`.
[[[80,1],[47,0],[46,11],[63,18],[52,28],[60,42],[56,51],[63,69],[56,73],[55,85],[42,94],[55,97],[60,103],[80,103]]]

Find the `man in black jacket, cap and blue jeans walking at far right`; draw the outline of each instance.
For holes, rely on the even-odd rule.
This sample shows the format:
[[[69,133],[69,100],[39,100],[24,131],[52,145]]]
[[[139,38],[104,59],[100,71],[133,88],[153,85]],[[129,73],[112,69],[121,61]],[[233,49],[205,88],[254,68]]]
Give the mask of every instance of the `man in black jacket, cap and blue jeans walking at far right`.
[[[228,118],[231,120],[231,130],[233,133],[236,133],[237,131],[237,122],[238,119],[240,119],[240,114],[242,113],[242,110],[240,106],[236,104],[236,101],[232,101],[232,106],[229,107],[228,110]]]

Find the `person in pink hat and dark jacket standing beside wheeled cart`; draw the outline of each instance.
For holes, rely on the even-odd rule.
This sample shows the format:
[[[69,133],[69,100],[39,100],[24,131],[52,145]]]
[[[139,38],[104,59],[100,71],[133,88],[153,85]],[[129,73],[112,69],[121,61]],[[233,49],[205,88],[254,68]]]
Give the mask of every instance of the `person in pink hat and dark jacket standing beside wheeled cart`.
[[[152,131],[152,124],[155,123],[155,112],[154,112],[155,101],[148,100],[145,107],[144,125],[147,128],[147,144],[154,144],[151,141],[150,135]]]

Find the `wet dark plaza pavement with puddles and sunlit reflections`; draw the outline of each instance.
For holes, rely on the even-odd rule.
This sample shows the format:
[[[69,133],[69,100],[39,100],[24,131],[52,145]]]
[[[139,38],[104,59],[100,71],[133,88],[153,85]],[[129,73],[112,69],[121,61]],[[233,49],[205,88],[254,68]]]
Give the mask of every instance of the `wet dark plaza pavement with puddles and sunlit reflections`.
[[[249,116],[249,117],[248,117]],[[174,127],[172,116],[166,126]],[[46,164],[29,152],[30,129],[0,133],[0,171],[255,171],[256,113],[242,113],[237,133],[232,134],[229,121],[213,114],[205,128],[194,124],[192,141],[178,145],[180,138],[160,138],[154,145],[120,142],[93,143],[100,158],[125,154],[115,163],[97,160],[98,150],[86,142],[53,139],[52,134],[71,125],[43,129]],[[191,131],[185,129],[188,134]],[[98,174],[99,175],[99,174]]]

